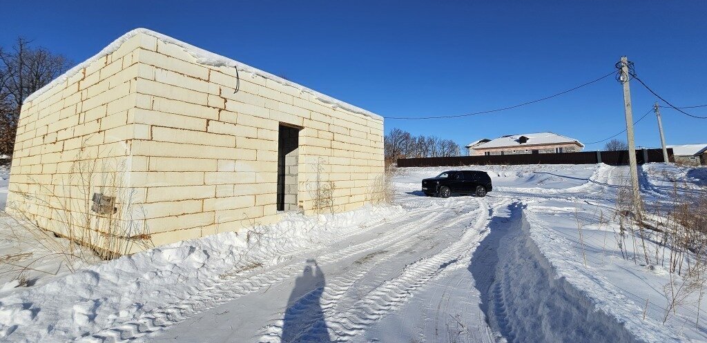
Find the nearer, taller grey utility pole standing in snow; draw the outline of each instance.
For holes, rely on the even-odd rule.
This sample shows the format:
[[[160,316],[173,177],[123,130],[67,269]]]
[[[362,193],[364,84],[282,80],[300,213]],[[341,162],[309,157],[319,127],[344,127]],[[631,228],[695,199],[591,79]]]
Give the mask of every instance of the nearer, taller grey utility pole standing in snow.
[[[631,165],[631,187],[633,188],[633,207],[636,219],[642,221],[641,189],[638,187],[638,163],[636,163],[636,141],[633,139],[633,110],[631,109],[631,88],[629,88],[629,58],[621,57],[621,75],[619,81],[624,85],[624,112],[626,113],[626,138],[629,141],[629,164]]]

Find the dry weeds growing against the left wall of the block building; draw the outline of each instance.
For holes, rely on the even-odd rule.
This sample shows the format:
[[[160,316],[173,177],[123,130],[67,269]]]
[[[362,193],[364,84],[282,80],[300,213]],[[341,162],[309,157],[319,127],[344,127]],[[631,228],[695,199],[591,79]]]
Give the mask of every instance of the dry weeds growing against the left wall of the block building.
[[[8,203],[8,210],[18,221],[13,233],[29,238],[46,255],[64,256],[66,265],[71,265],[69,260],[93,263],[96,257],[111,260],[151,248],[142,220],[144,210],[134,204],[134,190],[125,187],[124,171],[124,163],[117,158],[87,158],[82,149],[69,173],[53,176],[62,178],[59,185],[30,179],[40,190],[18,192],[23,200]],[[96,213],[92,209],[95,193],[112,199],[112,211]],[[48,213],[34,214],[28,211],[30,207],[42,207]],[[40,221],[51,227],[45,228]],[[56,237],[66,238],[69,244],[59,243]]]

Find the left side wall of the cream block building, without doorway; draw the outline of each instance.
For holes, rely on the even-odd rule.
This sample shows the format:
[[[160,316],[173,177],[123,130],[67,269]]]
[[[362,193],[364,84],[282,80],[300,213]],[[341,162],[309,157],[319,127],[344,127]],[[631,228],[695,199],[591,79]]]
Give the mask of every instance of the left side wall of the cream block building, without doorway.
[[[132,120],[141,73],[134,52],[143,39],[127,40],[23,104],[8,212],[63,236],[84,237],[100,248],[107,244],[107,234],[124,226],[127,213],[120,211],[115,220],[90,215],[87,200],[93,192],[116,197],[122,209],[128,202],[144,201],[140,192],[127,194],[130,168],[139,162],[131,160],[130,141],[146,133],[146,126]],[[133,250],[112,243],[111,248]]]

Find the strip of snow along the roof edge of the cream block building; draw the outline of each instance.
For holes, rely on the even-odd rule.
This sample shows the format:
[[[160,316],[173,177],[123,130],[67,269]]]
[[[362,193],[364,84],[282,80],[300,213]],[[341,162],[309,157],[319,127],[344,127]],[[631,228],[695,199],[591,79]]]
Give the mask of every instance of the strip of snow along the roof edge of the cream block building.
[[[192,56],[194,56],[194,58],[196,58],[197,62],[199,62],[200,64],[206,64],[209,66],[235,67],[235,68],[238,68],[239,71],[245,71],[248,73],[257,74],[258,76],[262,76],[266,79],[271,79],[273,81],[284,84],[286,86],[292,86],[294,88],[297,88],[301,92],[310,93],[315,98],[322,101],[322,103],[327,103],[329,105],[332,105],[332,107],[334,107],[334,108],[341,107],[344,110],[349,110],[351,112],[355,112],[355,113],[358,113],[361,115],[366,115],[366,116],[371,117],[375,120],[383,120],[383,117],[381,117],[380,115],[376,115],[375,113],[370,112],[368,110],[363,110],[363,108],[361,108],[361,107],[357,107],[357,106],[351,105],[349,103],[345,103],[344,101],[334,99],[334,98],[330,97],[329,95],[324,95],[324,94],[314,91],[310,88],[302,86],[298,83],[294,83],[294,82],[288,81],[286,79],[283,79],[279,76],[275,76],[273,74],[270,74],[267,71],[262,71],[260,69],[249,66],[247,64],[243,64],[243,63],[235,61],[233,59],[229,59],[228,57],[223,57],[219,54],[215,54],[214,52],[206,51],[204,49],[201,49],[200,47],[194,47],[194,45],[187,44],[185,42],[182,42],[181,40],[177,40],[173,37],[169,37],[168,35],[163,35],[161,33],[157,33],[153,30],[148,30],[146,28],[136,28],[136,29],[131,30],[128,33],[120,36],[117,40],[114,40],[112,43],[110,43],[110,45],[103,48],[103,50],[100,50],[100,52],[98,52],[98,54],[95,54],[95,56],[74,66],[74,68],[69,69],[69,71],[66,71],[66,73],[57,77],[57,79],[54,79],[54,81],[52,81],[52,82],[48,83],[46,86],[40,88],[35,93],[32,93],[30,96],[28,96],[25,99],[25,102],[30,102],[30,101],[36,99],[38,96],[42,95],[42,93],[49,91],[49,89],[51,89],[51,88],[54,88],[54,86],[64,83],[64,81],[66,81],[66,79],[69,79],[71,76],[74,76],[74,75],[78,74],[79,72],[81,72],[81,69],[88,66],[91,62],[94,62],[95,60],[105,57],[108,54],[111,54],[112,52],[115,52],[115,50],[117,50],[120,47],[120,45],[122,45],[124,42],[126,42],[130,38],[132,38],[136,35],[139,35],[140,33],[144,33],[145,35],[151,35],[153,37],[156,37],[158,40],[162,40],[163,42],[168,42],[168,43],[177,45],[179,47],[182,47],[182,49],[184,49],[186,52],[189,52],[189,54],[192,54]]]

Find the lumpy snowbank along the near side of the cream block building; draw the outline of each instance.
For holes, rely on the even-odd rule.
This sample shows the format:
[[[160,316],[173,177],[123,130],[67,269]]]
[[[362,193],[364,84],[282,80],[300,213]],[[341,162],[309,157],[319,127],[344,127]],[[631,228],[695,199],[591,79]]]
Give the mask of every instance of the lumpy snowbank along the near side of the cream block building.
[[[401,213],[400,207],[365,207],[316,217],[290,214],[250,235],[221,233],[164,245],[33,289],[16,289],[0,298],[0,337],[39,342],[90,335],[119,319],[185,302],[205,287],[257,274],[294,252],[321,248]]]

